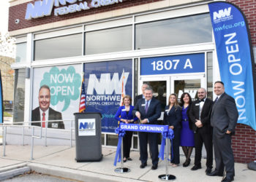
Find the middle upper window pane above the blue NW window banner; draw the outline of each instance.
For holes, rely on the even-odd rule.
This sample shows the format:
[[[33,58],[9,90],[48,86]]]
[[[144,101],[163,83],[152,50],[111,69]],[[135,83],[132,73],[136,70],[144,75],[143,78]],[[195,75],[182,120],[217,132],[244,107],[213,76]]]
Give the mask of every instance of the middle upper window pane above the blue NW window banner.
[[[132,50],[132,26],[86,32],[85,54]]]

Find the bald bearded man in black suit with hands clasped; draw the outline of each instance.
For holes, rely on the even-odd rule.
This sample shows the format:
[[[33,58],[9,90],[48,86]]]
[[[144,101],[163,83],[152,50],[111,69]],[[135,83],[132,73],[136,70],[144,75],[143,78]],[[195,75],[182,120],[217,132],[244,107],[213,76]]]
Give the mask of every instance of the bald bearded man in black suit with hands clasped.
[[[212,127],[209,121],[209,112],[214,102],[206,98],[206,90],[200,88],[197,90],[198,99],[192,102],[189,109],[189,119],[192,122],[192,130],[195,138],[195,165],[191,170],[198,170],[201,167],[201,157],[203,143],[206,147],[206,174],[211,173],[213,163],[212,149]]]

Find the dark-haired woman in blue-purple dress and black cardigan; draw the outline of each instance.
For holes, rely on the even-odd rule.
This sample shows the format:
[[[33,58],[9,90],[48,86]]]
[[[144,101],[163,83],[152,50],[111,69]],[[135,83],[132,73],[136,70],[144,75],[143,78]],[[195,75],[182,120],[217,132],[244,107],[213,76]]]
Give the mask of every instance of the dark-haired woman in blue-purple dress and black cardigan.
[[[182,150],[186,156],[186,161],[183,164],[183,167],[187,167],[190,164],[190,156],[195,146],[194,141],[194,132],[192,131],[191,122],[189,122],[189,108],[191,108],[192,99],[189,93],[184,92],[181,95],[181,143]]]

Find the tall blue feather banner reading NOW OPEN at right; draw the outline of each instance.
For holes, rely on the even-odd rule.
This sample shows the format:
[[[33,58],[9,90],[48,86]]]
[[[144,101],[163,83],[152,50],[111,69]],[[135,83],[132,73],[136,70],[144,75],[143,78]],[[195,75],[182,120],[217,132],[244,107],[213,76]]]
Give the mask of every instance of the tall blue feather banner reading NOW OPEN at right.
[[[256,130],[255,71],[246,17],[236,5],[227,2],[212,2],[208,7],[225,92],[236,100],[238,123]]]

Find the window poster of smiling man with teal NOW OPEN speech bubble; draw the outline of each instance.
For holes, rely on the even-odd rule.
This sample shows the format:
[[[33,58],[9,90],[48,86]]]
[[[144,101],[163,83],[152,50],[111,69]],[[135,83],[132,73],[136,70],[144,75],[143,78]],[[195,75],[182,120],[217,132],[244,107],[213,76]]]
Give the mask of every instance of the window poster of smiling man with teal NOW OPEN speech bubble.
[[[78,112],[81,65],[34,68],[32,125],[69,129]]]

